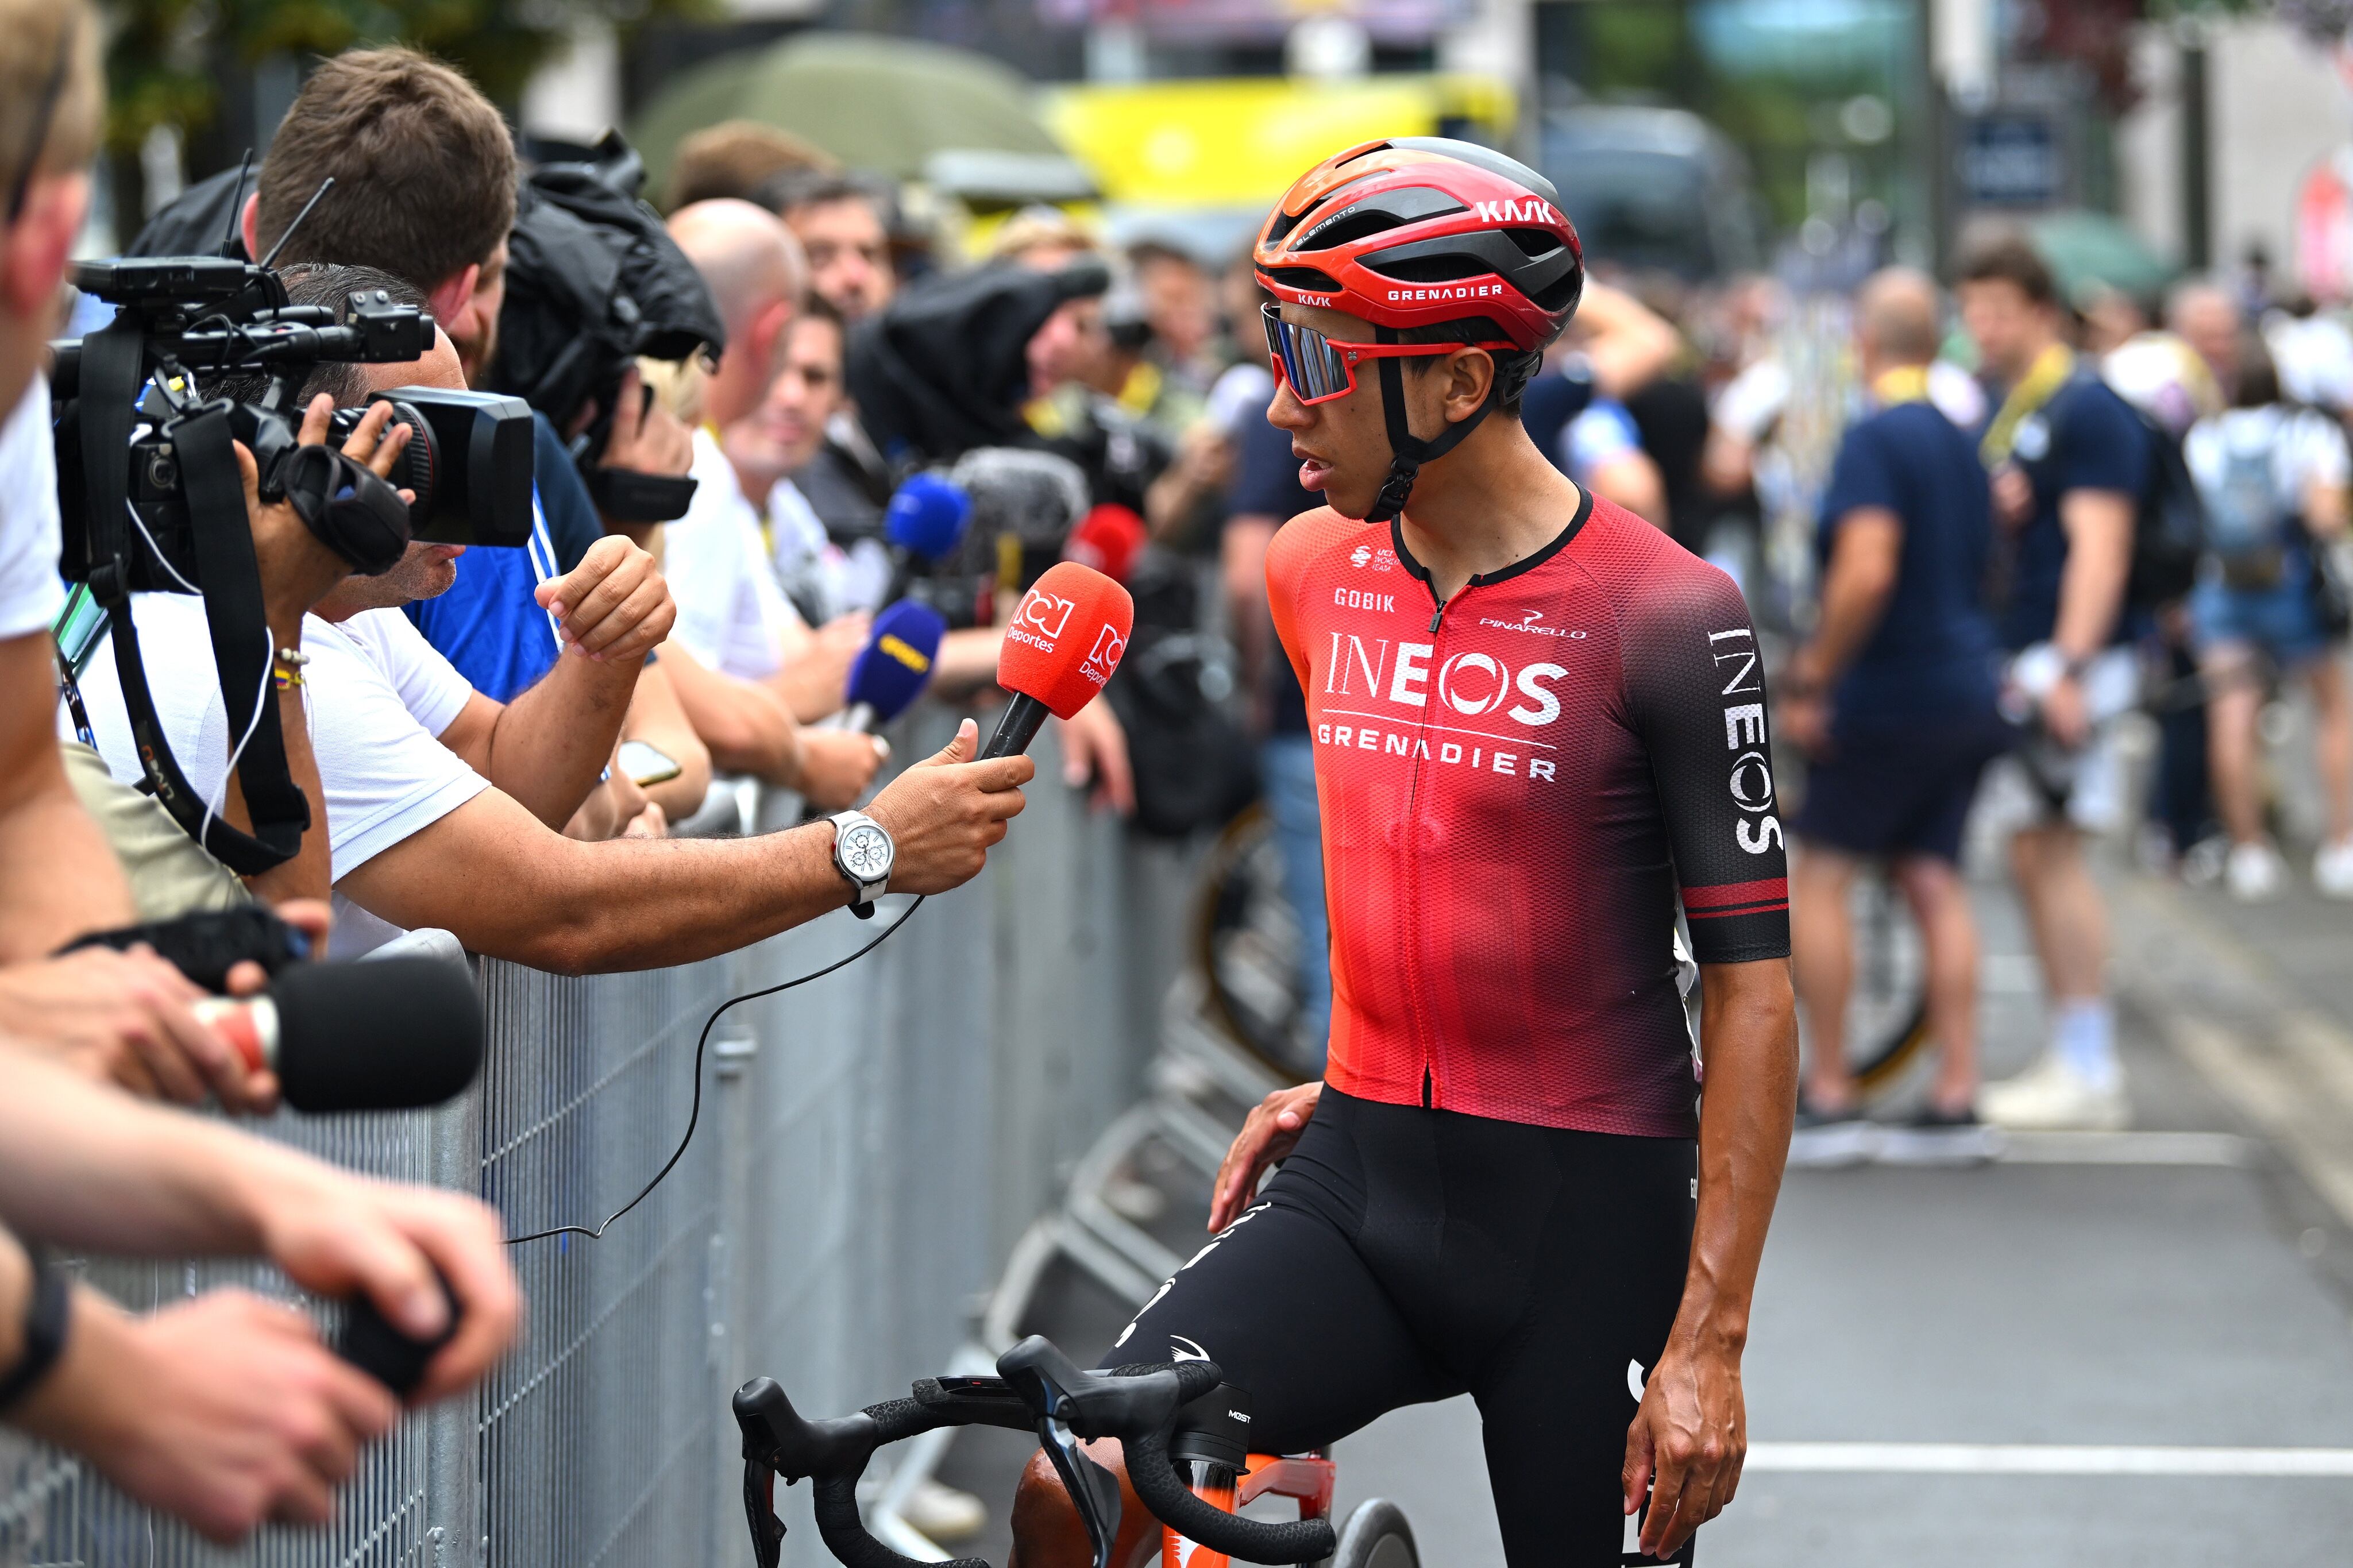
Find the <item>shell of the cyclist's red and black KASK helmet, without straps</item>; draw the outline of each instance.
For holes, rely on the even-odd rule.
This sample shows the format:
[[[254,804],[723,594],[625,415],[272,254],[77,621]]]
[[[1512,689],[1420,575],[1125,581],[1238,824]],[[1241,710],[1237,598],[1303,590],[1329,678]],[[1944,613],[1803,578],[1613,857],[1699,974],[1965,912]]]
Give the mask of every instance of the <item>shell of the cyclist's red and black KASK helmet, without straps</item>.
[[[1485,315],[1525,350],[1560,336],[1586,287],[1553,181],[1442,136],[1365,141],[1315,165],[1266,214],[1252,261],[1282,301],[1398,329]]]

